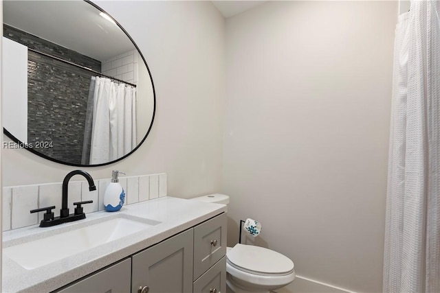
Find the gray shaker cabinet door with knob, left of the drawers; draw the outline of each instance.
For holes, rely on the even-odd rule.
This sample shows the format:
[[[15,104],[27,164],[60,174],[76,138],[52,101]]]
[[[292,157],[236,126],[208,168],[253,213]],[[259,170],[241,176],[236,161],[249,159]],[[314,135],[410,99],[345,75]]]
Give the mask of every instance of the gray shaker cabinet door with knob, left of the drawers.
[[[192,292],[192,229],[133,255],[131,292]]]

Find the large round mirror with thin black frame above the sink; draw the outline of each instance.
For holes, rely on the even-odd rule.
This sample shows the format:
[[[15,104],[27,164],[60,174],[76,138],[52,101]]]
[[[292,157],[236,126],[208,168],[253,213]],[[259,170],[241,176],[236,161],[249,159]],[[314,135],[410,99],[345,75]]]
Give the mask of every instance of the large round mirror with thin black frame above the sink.
[[[146,139],[155,91],[129,34],[89,1],[3,1],[3,148],[74,166],[114,163]]]

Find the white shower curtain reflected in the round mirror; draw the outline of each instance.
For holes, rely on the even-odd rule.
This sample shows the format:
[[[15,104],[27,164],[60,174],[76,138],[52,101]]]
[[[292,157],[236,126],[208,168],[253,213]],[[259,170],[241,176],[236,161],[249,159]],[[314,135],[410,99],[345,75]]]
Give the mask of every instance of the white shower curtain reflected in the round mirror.
[[[89,143],[89,164],[101,164],[121,158],[137,145],[136,89],[98,76],[92,77],[92,88],[89,102],[92,98],[93,103],[87,106],[83,160],[87,161]]]

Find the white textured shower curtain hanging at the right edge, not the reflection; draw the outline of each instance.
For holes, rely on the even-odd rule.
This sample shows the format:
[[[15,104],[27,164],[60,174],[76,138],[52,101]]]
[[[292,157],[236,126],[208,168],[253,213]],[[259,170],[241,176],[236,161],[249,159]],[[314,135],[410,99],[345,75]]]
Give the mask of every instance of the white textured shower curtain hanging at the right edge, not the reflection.
[[[384,292],[440,292],[439,14],[412,1],[396,27]]]

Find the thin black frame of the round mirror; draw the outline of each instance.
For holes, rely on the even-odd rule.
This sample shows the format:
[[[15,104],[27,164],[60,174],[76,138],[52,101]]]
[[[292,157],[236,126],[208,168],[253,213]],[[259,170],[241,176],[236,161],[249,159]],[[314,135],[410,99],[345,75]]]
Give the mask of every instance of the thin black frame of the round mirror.
[[[95,3],[91,2],[90,0],[83,0],[83,1],[85,1],[85,2],[89,3],[90,5],[94,6],[96,9],[100,10],[101,12],[104,12],[105,14],[109,15],[111,17],[111,19],[113,19],[113,16],[111,16],[110,14],[108,14],[107,12],[102,10],[102,8],[100,8],[98,5],[96,5]],[[155,88],[154,88],[154,83],[153,83],[153,77],[151,76],[151,71],[150,71],[148,65],[146,64],[144,55],[142,55],[142,52],[140,51],[139,47],[137,47],[137,45],[136,45],[135,41],[133,40],[133,38],[131,38],[129,33],[126,32],[126,30],[124,30],[124,27],[122,27],[122,25],[120,25],[120,23],[118,23],[118,21],[116,21],[115,19],[113,19],[113,21],[116,23],[116,25],[118,25],[118,27],[122,30],[122,32],[124,32],[124,34],[126,34],[126,36],[129,38],[129,40],[131,40],[131,43],[133,43],[133,45],[137,49],[137,53],[139,53],[139,55],[142,58],[142,61],[144,61],[144,65],[146,66],[146,70],[148,71],[148,75],[150,76],[150,80],[151,80],[151,88],[153,89],[153,116],[151,117],[150,126],[148,127],[148,130],[147,130],[144,138],[142,139],[142,141],[140,141],[140,143],[138,143],[136,145],[136,148],[131,150],[131,152],[129,152],[128,154],[125,154],[124,156],[122,156],[122,157],[120,157],[120,158],[118,158],[116,160],[107,162],[107,163],[94,164],[94,165],[83,165],[83,164],[74,164],[74,163],[63,162],[63,161],[60,161],[60,160],[57,160],[57,159],[53,159],[50,156],[46,156],[45,154],[41,154],[40,152],[37,152],[33,148],[25,148],[26,150],[32,152],[33,154],[36,154],[37,156],[41,156],[43,159],[47,159],[49,161],[52,161],[52,162],[55,162],[55,163],[60,163],[60,164],[63,164],[63,165],[69,165],[69,166],[75,166],[75,167],[100,167],[100,166],[104,166],[104,165],[110,165],[110,164],[113,164],[113,163],[116,163],[118,161],[121,161],[121,160],[125,159],[127,156],[130,156],[131,154],[133,154],[133,152],[135,152],[142,145],[142,143],[144,143],[146,137],[148,137],[148,134],[151,131],[151,128],[153,127],[153,122],[154,122],[155,112],[156,112],[156,93],[155,93]],[[14,137],[14,135],[12,135],[12,133],[10,133],[4,127],[3,127],[3,133],[7,137],[12,139],[12,141],[14,141],[14,143],[18,143],[19,145],[24,145],[24,143],[22,143],[19,139],[17,139],[17,137]]]

